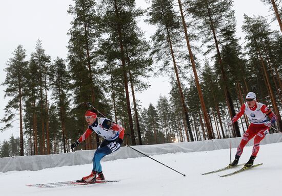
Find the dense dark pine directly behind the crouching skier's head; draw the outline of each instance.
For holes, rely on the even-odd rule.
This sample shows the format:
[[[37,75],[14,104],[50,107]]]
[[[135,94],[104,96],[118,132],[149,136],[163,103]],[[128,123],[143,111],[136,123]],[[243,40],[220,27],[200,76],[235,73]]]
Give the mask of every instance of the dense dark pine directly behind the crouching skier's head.
[[[98,85],[101,81],[96,75],[95,44],[99,37],[97,27],[99,18],[96,16],[95,6],[94,0],[75,0],[75,6],[70,6],[68,10],[68,13],[74,16],[68,33],[70,35],[68,60],[74,95],[72,114],[78,121],[75,124],[77,126],[75,135],[83,134],[87,128],[83,119],[87,108],[82,106],[82,103],[91,100],[99,111],[105,113],[103,106],[106,104],[101,104],[104,94]],[[92,143],[92,137],[93,135],[87,138],[87,143]],[[99,136],[95,135],[94,143],[98,142]],[[96,147],[96,144],[90,145],[89,149]]]

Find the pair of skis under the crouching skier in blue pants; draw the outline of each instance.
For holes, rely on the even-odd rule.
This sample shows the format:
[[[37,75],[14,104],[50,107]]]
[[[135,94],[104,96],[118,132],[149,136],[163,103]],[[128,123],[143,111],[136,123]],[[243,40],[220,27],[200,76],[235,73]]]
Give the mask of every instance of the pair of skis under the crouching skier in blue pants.
[[[90,185],[90,184],[100,184],[109,182],[119,182],[120,180],[97,180],[93,182],[76,182],[76,181],[65,181],[65,182],[54,182],[54,183],[44,183],[44,184],[27,184],[26,186],[34,186],[40,188],[54,188],[62,186],[79,186],[79,185]]]

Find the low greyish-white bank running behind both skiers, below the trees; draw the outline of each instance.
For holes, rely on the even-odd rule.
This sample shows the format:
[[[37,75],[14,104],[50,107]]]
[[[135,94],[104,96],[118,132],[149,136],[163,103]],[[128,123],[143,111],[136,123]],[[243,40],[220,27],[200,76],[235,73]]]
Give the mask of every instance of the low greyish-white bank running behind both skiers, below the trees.
[[[231,138],[231,148],[237,148],[241,138]],[[282,142],[282,134],[275,133],[267,135],[261,141],[261,144]],[[207,141],[183,142],[183,143],[166,143],[156,145],[137,145],[132,148],[143,152],[146,155],[160,155],[178,152],[199,152],[213,151],[219,149],[229,149],[228,139],[212,139]],[[253,145],[251,140],[247,146]],[[0,158],[0,172],[12,170],[40,170],[44,168],[71,166],[92,163],[95,150],[76,151],[72,153],[56,154],[56,155],[38,155],[38,156],[19,156]],[[103,158],[103,161],[127,159],[142,157],[144,155],[124,146],[117,152]]]

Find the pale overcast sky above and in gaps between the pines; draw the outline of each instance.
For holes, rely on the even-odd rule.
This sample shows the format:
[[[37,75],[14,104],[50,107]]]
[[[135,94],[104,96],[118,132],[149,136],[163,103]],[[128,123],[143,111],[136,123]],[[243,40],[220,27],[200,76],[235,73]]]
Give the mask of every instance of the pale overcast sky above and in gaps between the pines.
[[[143,0],[136,0],[137,5],[144,5]],[[244,42],[244,34],[241,33],[243,15],[267,16],[269,6],[264,5],[260,0],[235,0],[235,15],[237,20],[237,35],[241,37],[240,43]],[[36,40],[42,40],[43,48],[52,61],[56,57],[66,59],[67,44],[69,37],[67,32],[70,29],[72,16],[68,15],[69,5],[74,5],[72,0],[9,0],[0,1],[0,83],[5,81],[7,60],[12,58],[13,51],[21,44],[27,51],[27,60],[30,54],[35,51]],[[267,17],[271,21],[272,16]],[[140,22],[147,37],[153,34],[154,28],[148,28],[144,22]],[[278,30],[278,22],[271,23],[272,29]],[[151,87],[142,94],[137,93],[143,106],[148,108],[149,103],[156,105],[160,94],[167,95],[170,86],[168,78],[159,77],[150,80]],[[160,87],[160,85],[162,85]],[[0,86],[0,118],[4,116],[4,108],[8,99],[4,99],[4,86]],[[4,126],[0,124],[0,127]],[[0,132],[0,141],[9,139],[11,134],[19,136],[18,124],[14,128],[3,133]]]

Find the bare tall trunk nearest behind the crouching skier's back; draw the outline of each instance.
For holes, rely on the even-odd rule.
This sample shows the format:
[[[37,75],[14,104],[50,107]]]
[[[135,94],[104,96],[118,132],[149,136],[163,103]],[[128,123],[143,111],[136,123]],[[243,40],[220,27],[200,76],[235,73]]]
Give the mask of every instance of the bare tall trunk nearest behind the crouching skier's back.
[[[114,0],[115,15],[116,15],[116,18],[119,18],[119,13],[118,13],[116,1],[117,0]],[[125,94],[126,94],[126,102],[127,102],[127,113],[128,113],[129,127],[130,127],[130,133],[131,133],[131,142],[132,142],[132,145],[136,145],[135,134],[134,134],[134,129],[133,129],[132,114],[131,114],[131,107],[130,107],[130,100],[129,100],[128,79],[127,79],[127,71],[126,71],[126,66],[125,66],[124,43],[123,43],[122,29],[121,29],[119,23],[117,24],[117,34],[118,34],[118,41],[119,41],[120,54],[121,54],[122,67],[123,67],[123,74],[124,74]]]

